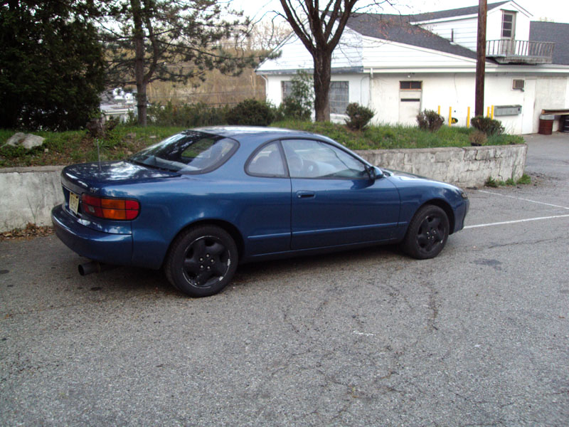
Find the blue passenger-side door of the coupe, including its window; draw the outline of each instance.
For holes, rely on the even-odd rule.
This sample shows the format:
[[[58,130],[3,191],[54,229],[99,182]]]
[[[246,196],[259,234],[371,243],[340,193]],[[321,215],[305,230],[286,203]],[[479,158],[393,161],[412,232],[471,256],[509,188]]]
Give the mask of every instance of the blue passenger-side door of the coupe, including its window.
[[[400,199],[385,179],[344,149],[316,139],[283,139],[292,186],[293,250],[393,237]]]

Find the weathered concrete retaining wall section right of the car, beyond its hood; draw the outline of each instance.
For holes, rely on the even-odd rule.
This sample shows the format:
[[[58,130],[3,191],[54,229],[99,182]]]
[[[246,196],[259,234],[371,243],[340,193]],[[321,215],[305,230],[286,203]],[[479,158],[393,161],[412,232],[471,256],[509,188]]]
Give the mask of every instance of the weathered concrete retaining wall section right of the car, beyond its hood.
[[[491,176],[506,181],[520,179],[526,167],[528,147],[496,145],[489,147],[442,147],[422,149],[359,150],[371,164],[395,169],[463,187],[482,186]]]

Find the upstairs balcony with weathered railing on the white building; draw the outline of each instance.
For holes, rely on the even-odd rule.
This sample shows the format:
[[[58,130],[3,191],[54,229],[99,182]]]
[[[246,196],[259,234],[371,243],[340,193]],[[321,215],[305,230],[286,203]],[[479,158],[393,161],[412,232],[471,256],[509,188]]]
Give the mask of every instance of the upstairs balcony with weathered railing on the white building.
[[[486,57],[501,64],[551,64],[553,46],[548,41],[488,40]]]

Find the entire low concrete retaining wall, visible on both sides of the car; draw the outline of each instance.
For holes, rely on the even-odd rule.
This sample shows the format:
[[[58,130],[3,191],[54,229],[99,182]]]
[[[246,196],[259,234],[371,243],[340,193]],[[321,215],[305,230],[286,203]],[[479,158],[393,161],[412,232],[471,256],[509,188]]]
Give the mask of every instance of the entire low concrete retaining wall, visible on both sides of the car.
[[[526,165],[526,145],[494,147],[360,150],[371,164],[463,187],[482,186],[494,179],[519,179]],[[63,202],[63,167],[0,169],[0,231],[23,228],[28,222],[50,225],[51,208]]]

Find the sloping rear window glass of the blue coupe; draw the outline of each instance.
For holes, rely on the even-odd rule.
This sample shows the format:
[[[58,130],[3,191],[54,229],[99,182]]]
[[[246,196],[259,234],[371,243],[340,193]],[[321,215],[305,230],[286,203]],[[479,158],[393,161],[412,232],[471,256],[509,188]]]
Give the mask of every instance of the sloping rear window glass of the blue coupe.
[[[128,160],[156,169],[197,174],[216,169],[237,147],[233,139],[187,131],[151,145]]]

